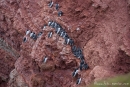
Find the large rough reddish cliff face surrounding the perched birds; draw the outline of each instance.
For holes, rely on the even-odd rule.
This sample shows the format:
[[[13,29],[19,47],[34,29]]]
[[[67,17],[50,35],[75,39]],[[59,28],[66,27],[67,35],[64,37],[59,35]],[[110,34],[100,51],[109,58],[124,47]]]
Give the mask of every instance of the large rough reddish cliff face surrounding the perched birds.
[[[8,78],[10,72],[9,87],[80,87],[130,72],[129,0],[53,0],[63,12],[61,17],[54,5],[48,6],[49,2],[0,0],[0,37],[17,51],[17,60],[7,61],[16,61],[13,70],[5,71]],[[72,77],[80,61],[71,46],[63,44],[64,39],[53,28],[43,30],[50,20],[59,23],[83,50],[89,69],[79,72],[80,85],[76,85],[78,77]],[[43,34],[33,40],[25,34],[27,29]],[[53,35],[48,38],[50,31]],[[25,37],[27,41],[23,42]],[[5,60],[3,56],[1,61]],[[48,60],[43,63],[45,56]]]

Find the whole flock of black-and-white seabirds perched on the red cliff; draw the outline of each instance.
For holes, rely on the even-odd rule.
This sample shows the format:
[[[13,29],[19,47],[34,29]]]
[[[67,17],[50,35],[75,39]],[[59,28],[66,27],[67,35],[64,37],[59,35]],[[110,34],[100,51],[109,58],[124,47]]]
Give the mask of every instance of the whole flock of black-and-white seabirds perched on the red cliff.
[[[49,7],[52,8],[54,2],[50,1],[49,3]],[[59,10],[59,4],[55,4],[55,8],[58,11]],[[62,16],[63,12],[62,11],[58,11],[58,16]],[[43,29],[46,28],[47,25],[44,25]],[[72,76],[76,77],[78,75],[79,71],[82,70],[87,70],[89,68],[89,66],[87,65],[87,63],[85,62],[83,53],[81,48],[77,48],[74,45],[74,41],[68,36],[67,32],[60,26],[60,24],[56,23],[55,21],[49,21],[48,22],[48,26],[52,27],[55,29],[56,34],[58,34],[60,37],[65,39],[65,44],[70,45],[71,46],[71,50],[72,53],[74,54],[75,57],[77,57],[78,59],[80,59],[80,66],[78,68],[76,68],[73,73]],[[35,34],[34,32],[27,30],[26,31],[26,35],[30,35],[30,38],[32,38],[33,40],[37,40],[38,37],[40,37],[42,35],[43,32],[40,32],[38,34]],[[51,38],[53,35],[52,32],[48,33],[48,38]],[[27,37],[23,38],[23,42],[27,41]],[[46,63],[47,61],[47,56],[44,57],[43,63]],[[76,84],[80,84],[81,83],[81,77],[77,79]]]

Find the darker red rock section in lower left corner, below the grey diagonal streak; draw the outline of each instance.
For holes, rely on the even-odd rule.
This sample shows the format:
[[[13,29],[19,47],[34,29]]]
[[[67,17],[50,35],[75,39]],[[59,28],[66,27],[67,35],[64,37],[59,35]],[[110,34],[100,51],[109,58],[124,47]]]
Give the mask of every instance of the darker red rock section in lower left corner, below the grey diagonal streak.
[[[0,87],[7,87],[9,74],[14,69],[15,58],[0,49]]]

